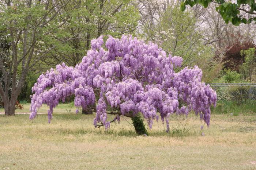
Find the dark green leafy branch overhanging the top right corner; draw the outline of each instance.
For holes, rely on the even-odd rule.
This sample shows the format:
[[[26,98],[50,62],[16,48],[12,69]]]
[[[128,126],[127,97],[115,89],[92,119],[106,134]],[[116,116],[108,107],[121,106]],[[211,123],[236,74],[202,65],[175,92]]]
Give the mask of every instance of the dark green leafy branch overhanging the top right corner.
[[[256,3],[255,0],[183,0],[181,3],[181,10],[185,11],[187,5],[193,7],[196,4],[202,5],[207,8],[210,3],[218,4],[216,11],[219,12],[226,23],[231,22],[233,25],[238,26],[240,23],[256,23]],[[244,8],[245,7],[245,8]],[[249,7],[249,9],[248,9]],[[243,18],[240,12],[248,13],[249,18]]]

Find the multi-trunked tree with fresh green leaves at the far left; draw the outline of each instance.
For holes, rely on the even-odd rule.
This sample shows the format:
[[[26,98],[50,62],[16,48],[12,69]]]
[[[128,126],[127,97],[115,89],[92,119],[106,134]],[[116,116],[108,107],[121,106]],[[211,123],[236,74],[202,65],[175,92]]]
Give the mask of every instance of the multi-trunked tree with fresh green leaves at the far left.
[[[41,53],[35,50],[51,36],[50,34],[61,30],[69,15],[60,11],[68,3],[69,0],[0,1],[0,31],[7,35],[7,41],[11,45],[10,56],[7,57],[10,58],[10,65],[4,65],[4,58],[0,58],[4,79],[0,94],[5,115],[14,115],[15,102],[29,70],[36,66],[48,51],[56,47],[45,48]]]

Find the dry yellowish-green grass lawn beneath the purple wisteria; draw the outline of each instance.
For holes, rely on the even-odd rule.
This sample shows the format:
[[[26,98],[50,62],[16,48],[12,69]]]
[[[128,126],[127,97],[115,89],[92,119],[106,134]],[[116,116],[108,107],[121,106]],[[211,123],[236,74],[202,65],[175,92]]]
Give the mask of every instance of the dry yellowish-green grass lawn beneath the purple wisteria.
[[[24,107],[17,112],[28,112]],[[205,136],[193,114],[172,116],[169,134],[154,122],[149,136],[136,136],[129,118],[109,131],[94,128],[93,118],[68,104],[54,110],[50,124],[46,114],[0,115],[0,170],[256,169],[256,113],[212,114]]]

